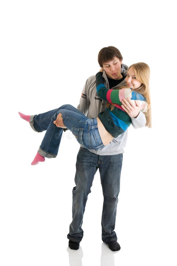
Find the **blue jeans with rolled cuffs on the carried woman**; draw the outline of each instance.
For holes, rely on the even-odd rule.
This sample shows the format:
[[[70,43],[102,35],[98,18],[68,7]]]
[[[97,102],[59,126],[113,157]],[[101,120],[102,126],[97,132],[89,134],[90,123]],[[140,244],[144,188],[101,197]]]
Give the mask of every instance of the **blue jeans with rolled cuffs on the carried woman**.
[[[83,113],[72,105],[66,104],[58,109],[40,113],[30,117],[31,127],[42,132],[46,130],[38,153],[47,158],[54,158],[63,133],[63,129],[53,124],[58,114],[61,113],[65,126],[71,130],[80,145],[88,149],[99,149],[104,146],[96,119],[88,119]]]

